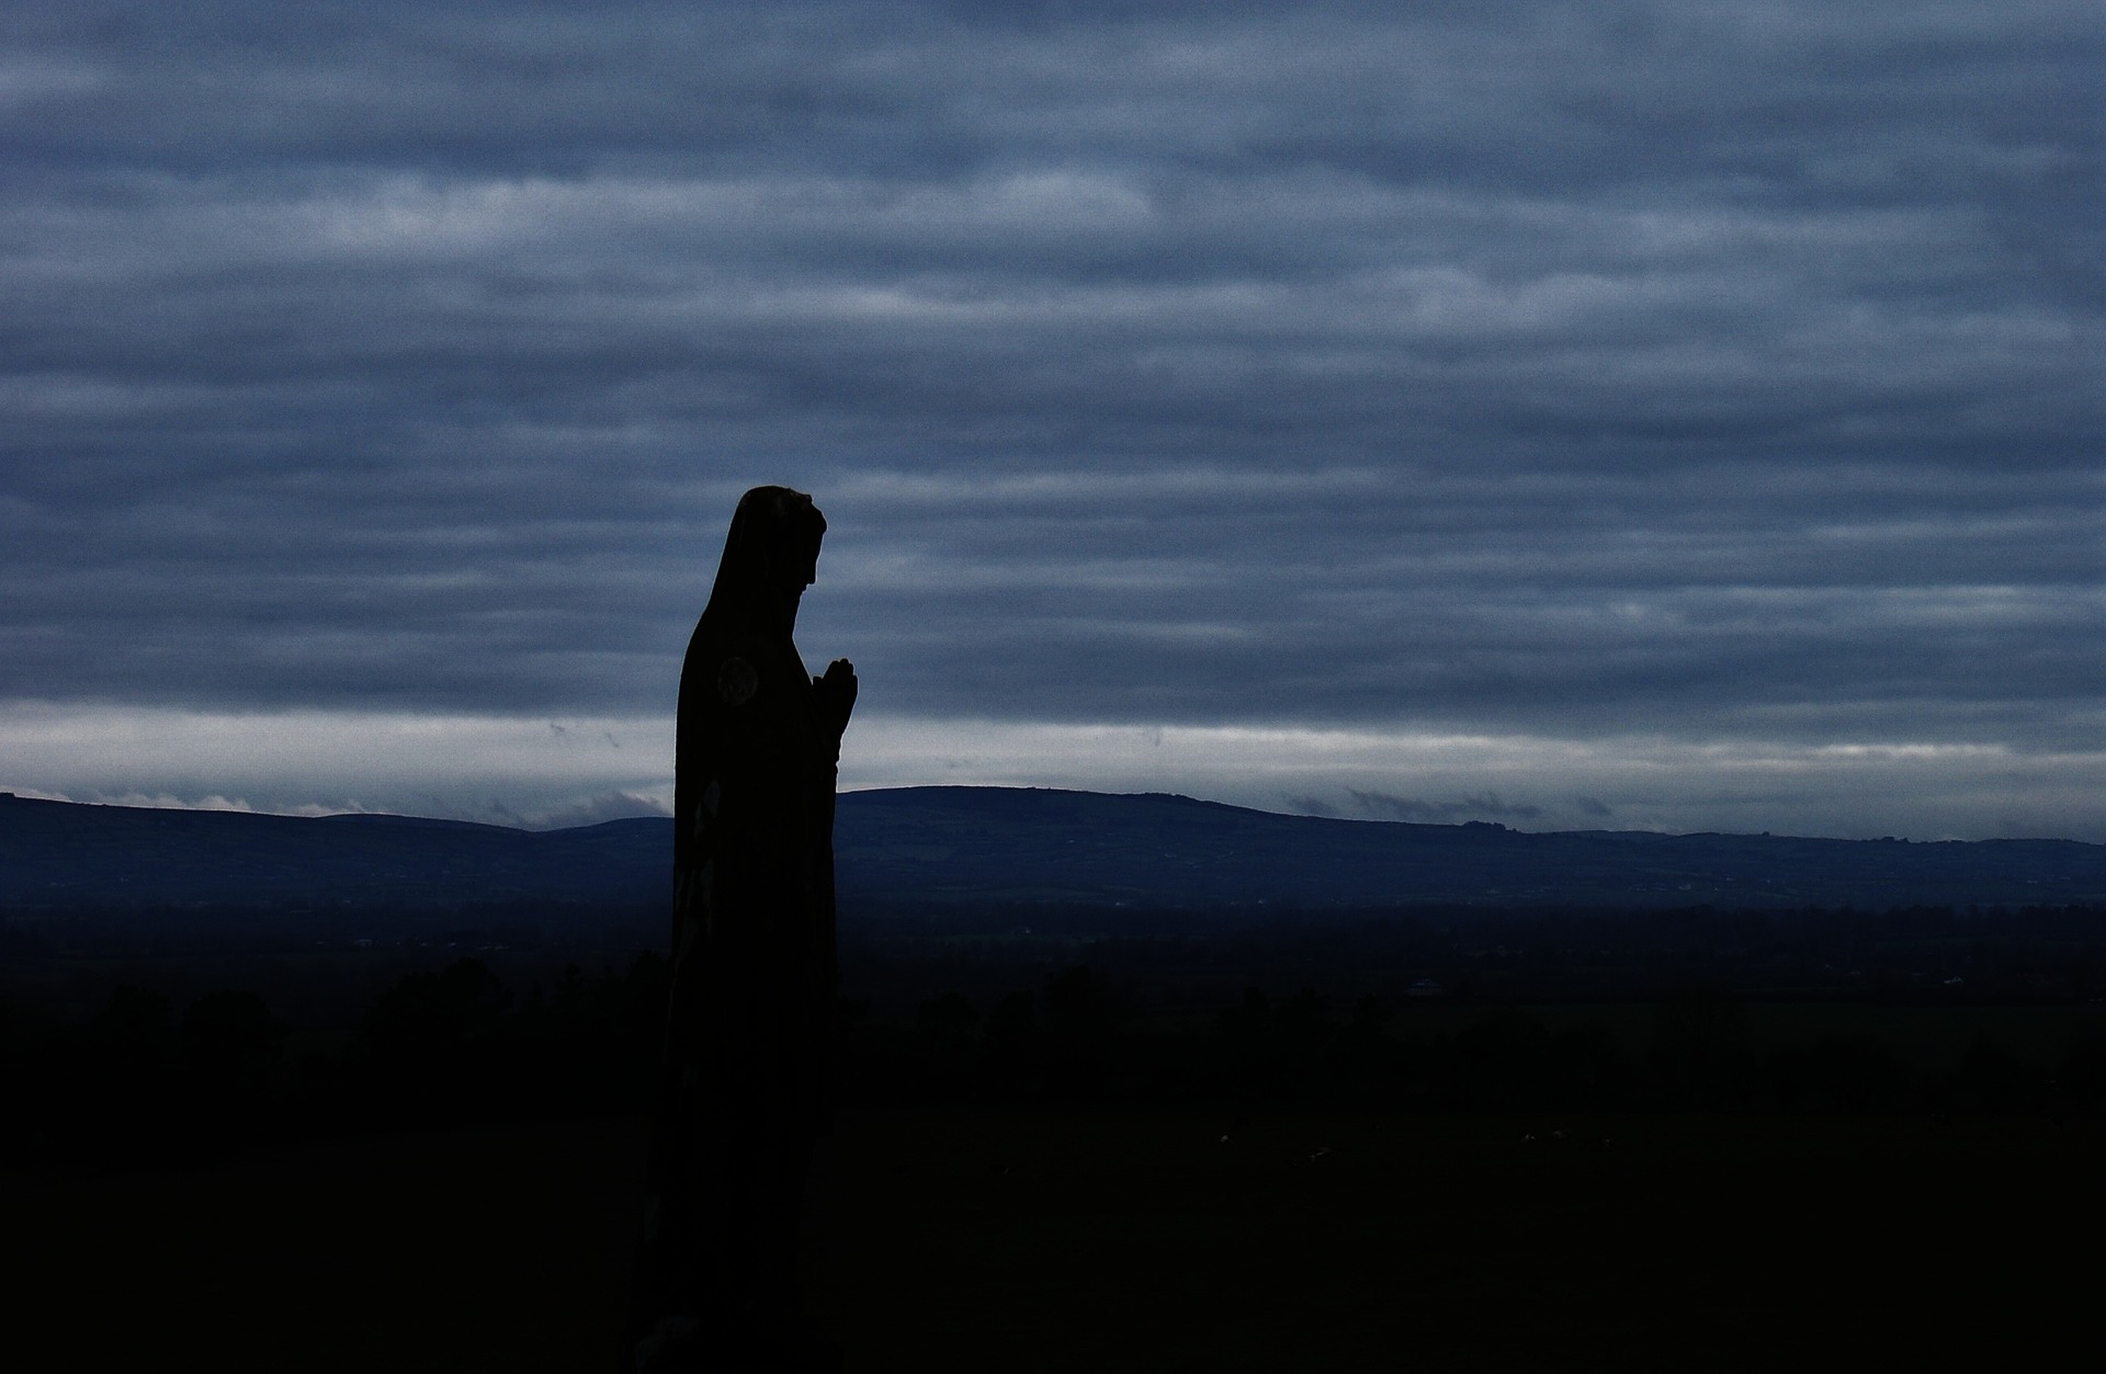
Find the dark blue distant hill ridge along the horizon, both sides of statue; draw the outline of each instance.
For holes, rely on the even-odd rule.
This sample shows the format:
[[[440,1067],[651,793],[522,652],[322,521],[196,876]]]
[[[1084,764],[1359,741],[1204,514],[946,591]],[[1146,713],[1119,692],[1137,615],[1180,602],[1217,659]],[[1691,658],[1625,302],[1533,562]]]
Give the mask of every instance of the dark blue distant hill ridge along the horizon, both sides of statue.
[[[267,816],[0,797],[0,909],[489,901],[649,905],[672,823],[522,831],[421,816]],[[1135,907],[1895,907],[2106,901],[2106,846],[1523,833],[1339,821],[1141,793],[842,793],[842,913],[916,903]]]

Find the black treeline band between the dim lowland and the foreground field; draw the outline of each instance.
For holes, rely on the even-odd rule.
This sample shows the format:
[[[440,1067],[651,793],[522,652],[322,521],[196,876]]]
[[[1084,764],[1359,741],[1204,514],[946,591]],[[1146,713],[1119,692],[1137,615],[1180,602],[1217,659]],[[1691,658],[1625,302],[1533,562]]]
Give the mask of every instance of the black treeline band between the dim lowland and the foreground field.
[[[1104,953],[1118,955],[1118,949]],[[1127,949],[1125,953],[1131,953]],[[1805,1006],[1723,989],[1651,1002],[1506,1004],[1312,985],[1165,995],[1129,959],[1036,985],[840,1002],[851,1107],[1209,1105],[1382,1111],[1746,1111],[2049,1115],[2106,1109],[2106,1008],[2047,1008],[2011,1044],[1986,1008],[1923,1008],[1836,1031]],[[897,989],[895,989],[897,991]],[[371,1130],[640,1115],[665,962],[571,966],[516,989],[480,957],[402,974],[356,1018],[289,1027],[267,989],[187,1002],[122,983],[86,1014],[0,1004],[15,1166],[141,1168]],[[1820,1004],[1811,1004],[1815,1010]],[[1967,1033],[1969,1018],[1982,1025]]]

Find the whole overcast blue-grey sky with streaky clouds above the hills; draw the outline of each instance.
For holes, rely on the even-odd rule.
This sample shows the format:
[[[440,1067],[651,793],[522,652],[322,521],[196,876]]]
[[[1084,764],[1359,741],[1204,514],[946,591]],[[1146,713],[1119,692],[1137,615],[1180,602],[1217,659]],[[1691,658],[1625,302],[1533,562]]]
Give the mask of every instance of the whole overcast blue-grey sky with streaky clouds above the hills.
[[[849,787],[2106,840],[2095,0],[0,34],[0,787],[661,806],[783,482]]]

